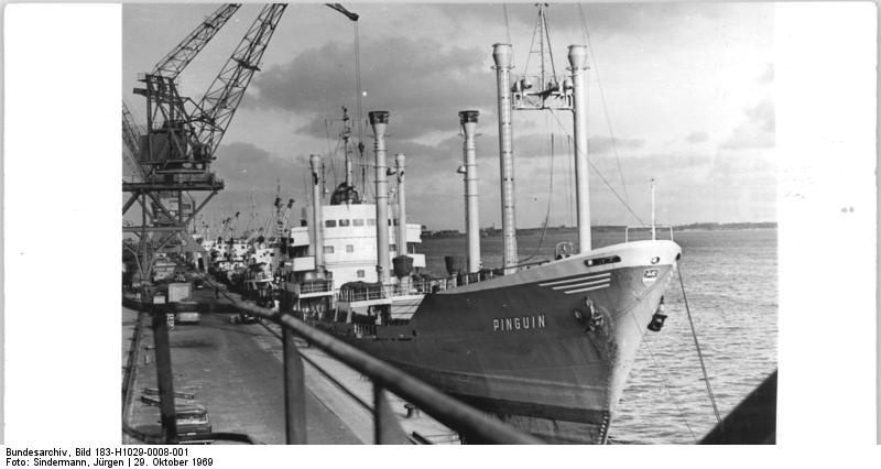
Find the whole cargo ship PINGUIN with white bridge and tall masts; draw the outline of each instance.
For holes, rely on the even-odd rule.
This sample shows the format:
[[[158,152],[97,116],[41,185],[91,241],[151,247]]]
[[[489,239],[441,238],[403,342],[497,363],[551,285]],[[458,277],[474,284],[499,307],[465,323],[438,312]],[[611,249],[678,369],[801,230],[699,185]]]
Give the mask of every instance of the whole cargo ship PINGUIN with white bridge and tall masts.
[[[459,113],[468,255],[452,275],[424,275],[420,226],[406,223],[404,156],[385,163],[388,111],[369,112],[376,199],[346,181],[324,204],[312,156],[312,214],[286,239],[283,308],[439,390],[548,443],[605,444],[646,330],[681,257],[672,240],[591,248],[587,162],[587,53],[568,47],[570,74],[512,85],[511,45],[493,45],[498,85],[503,265],[480,260],[475,129]],[[553,260],[519,264],[513,206],[513,109],[573,112],[578,242]],[[396,176],[389,203],[387,176]],[[396,209],[396,216],[390,211]],[[460,265],[456,265],[460,264]]]

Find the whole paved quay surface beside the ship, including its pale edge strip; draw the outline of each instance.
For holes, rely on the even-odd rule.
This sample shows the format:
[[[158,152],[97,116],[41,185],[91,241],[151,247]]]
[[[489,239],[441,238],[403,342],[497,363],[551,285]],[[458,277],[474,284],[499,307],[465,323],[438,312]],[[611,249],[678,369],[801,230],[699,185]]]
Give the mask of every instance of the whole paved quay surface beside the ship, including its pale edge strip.
[[[236,294],[227,293],[239,301]],[[230,305],[213,288],[193,293],[198,303],[218,310]],[[175,324],[170,334],[174,390],[193,394],[177,404],[207,407],[214,432],[247,434],[263,444],[284,444],[284,388],[281,328],[274,324],[233,324],[232,313],[203,314],[199,324]],[[138,313],[122,308],[123,366]],[[143,390],[156,388],[153,332],[143,327],[134,358],[134,378],[126,417],[132,427],[155,427],[159,407],[141,401]],[[354,445],[373,443],[372,383],[356,370],[296,340],[304,358],[307,443]],[[124,378],[124,374],[123,374]],[[155,396],[153,396],[155,397]],[[434,444],[458,444],[458,435],[427,415],[407,417],[405,402],[389,395],[393,412],[407,435]],[[123,437],[123,443],[137,443]]]

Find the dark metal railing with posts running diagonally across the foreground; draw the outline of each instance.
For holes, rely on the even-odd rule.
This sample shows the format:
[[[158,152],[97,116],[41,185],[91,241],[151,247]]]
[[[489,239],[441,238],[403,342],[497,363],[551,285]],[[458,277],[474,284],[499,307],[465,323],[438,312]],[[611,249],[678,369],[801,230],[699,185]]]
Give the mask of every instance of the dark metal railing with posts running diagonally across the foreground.
[[[229,296],[227,296],[227,298],[231,302],[231,309],[251,314],[258,318],[273,321],[282,327],[282,342],[284,349],[285,427],[286,441],[289,444],[306,443],[306,411],[304,405],[306,395],[305,375],[303,359],[293,341],[294,336],[308,341],[312,347],[323,350],[328,356],[368,377],[373,382],[374,434],[376,443],[378,444],[402,444],[407,441],[406,436],[401,430],[396,417],[391,412],[391,407],[385,397],[387,390],[422,408],[423,412],[431,415],[437,422],[458,432],[464,436],[465,441],[477,444],[514,445],[543,443],[531,435],[523,434],[501,423],[500,421],[488,417],[482,412],[444,394],[423,381],[411,377],[401,370],[398,370],[384,361],[379,360],[373,356],[370,356],[357,349],[356,347],[346,343],[334,336],[330,336],[327,332],[309,326],[291,314],[274,312],[272,309],[238,302]],[[123,303],[131,305],[133,302],[129,299]],[[140,306],[142,310],[150,310],[154,315],[164,315],[168,310],[177,309],[177,306],[174,304],[153,305],[141,303]],[[214,305],[205,306],[208,307],[199,307],[199,309],[208,309],[211,312],[215,309],[211,307]],[[284,306],[280,309],[284,310],[289,308],[290,306]],[[228,309],[230,308],[227,307],[227,310]],[[161,331],[161,329],[167,327],[164,319],[154,319],[153,327],[156,332],[159,332],[155,334],[154,337],[159,338],[164,336],[167,338],[167,329]],[[171,360],[167,360],[167,362],[160,360],[160,346],[168,347],[167,340],[164,340],[164,343],[160,343],[160,341],[156,342],[156,373],[159,378],[157,382],[160,388],[160,400],[170,404],[161,405],[163,414],[162,422],[164,425],[163,443],[182,443],[192,438],[189,436],[178,436],[176,433],[176,419],[173,405],[174,391],[171,382]],[[126,425],[123,425],[123,430],[134,436],[133,433],[129,432],[130,429],[131,428],[128,428]],[[221,438],[224,435],[227,434],[213,434],[210,436],[215,439],[226,439]],[[200,435],[199,437],[207,438],[208,436],[209,435]],[[235,440],[238,441],[242,441],[242,438],[247,437],[238,434],[235,436]],[[139,439],[144,441],[153,441],[153,439]]]

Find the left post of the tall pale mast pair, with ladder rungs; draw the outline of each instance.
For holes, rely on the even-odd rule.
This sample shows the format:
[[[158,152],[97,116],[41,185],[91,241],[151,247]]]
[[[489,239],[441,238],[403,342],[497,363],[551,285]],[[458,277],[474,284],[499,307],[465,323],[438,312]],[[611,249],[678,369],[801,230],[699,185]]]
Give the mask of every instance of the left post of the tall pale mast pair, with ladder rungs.
[[[499,98],[499,160],[502,201],[502,246],[504,273],[516,271],[516,223],[514,221],[514,148],[511,127],[511,44],[493,44]]]

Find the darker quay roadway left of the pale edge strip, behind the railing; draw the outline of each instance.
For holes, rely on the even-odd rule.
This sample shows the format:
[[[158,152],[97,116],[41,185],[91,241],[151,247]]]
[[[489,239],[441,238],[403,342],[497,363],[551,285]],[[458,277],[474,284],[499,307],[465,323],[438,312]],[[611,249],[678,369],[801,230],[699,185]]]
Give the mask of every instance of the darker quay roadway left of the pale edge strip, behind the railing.
[[[124,327],[131,327],[134,316],[123,308],[123,337],[131,336]],[[149,320],[144,324],[127,410],[128,422],[135,428],[160,421],[159,407],[140,400],[144,389],[156,388],[153,334]],[[206,406],[215,432],[243,433],[260,443],[284,444],[282,363],[260,346],[261,341],[278,340],[265,327],[231,324],[226,314],[203,314],[198,325],[176,324],[170,336],[174,390],[194,394],[192,401],[178,399],[178,403]],[[127,342],[123,339],[123,356]],[[312,390],[306,395],[306,418],[309,444],[369,443],[356,436]]]

